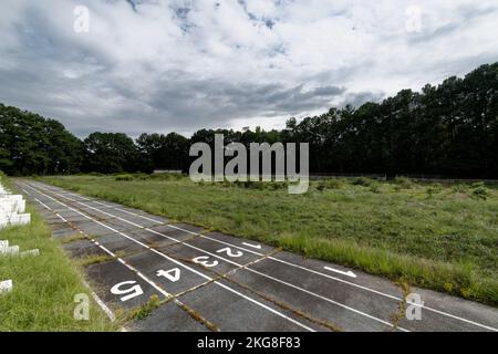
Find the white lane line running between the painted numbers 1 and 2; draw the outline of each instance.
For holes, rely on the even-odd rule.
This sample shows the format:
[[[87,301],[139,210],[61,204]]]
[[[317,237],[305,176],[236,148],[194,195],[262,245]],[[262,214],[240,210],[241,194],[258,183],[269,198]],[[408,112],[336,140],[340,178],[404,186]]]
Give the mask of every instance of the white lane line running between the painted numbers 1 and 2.
[[[66,198],[64,196],[62,196],[62,197]],[[98,204],[102,205],[102,206],[110,207],[110,205],[105,205],[103,202],[98,202]],[[112,207],[112,208],[114,208],[116,210],[120,210],[120,211],[125,211],[125,212],[131,214],[131,215],[135,215],[135,216],[144,218],[144,219],[149,219],[149,218],[146,218],[146,217],[141,216],[138,214],[133,214],[133,212],[129,212],[129,211],[126,211],[126,210],[122,210],[122,209],[115,208],[115,207]],[[167,225],[167,223],[165,223],[165,225],[167,227],[169,227],[169,228],[174,228],[174,229],[181,230],[181,231],[185,231],[185,232],[188,232],[188,233],[191,233],[191,235],[196,235],[196,236],[199,236],[199,237],[205,238],[205,239],[209,239],[209,240],[218,242],[218,243],[231,246],[231,247],[238,248],[240,250],[243,250],[243,251],[252,253],[252,254],[257,254],[257,256],[260,256],[260,257],[264,256],[263,253],[249,250],[247,248],[234,244],[231,242],[221,241],[221,240],[218,240],[218,239],[215,239],[215,238],[211,238],[211,237],[198,233],[198,232],[194,232],[194,231],[186,230],[186,229],[183,229],[183,228],[179,228],[179,227],[175,227],[173,225]],[[392,295],[392,294],[388,294],[388,293],[384,293],[384,292],[375,290],[375,289],[371,289],[371,288],[367,288],[367,287],[364,287],[364,285],[352,283],[352,282],[349,282],[349,281],[346,281],[344,279],[335,278],[335,277],[332,277],[330,274],[325,274],[325,273],[315,271],[313,269],[309,269],[309,268],[305,268],[305,267],[302,267],[302,266],[299,266],[299,264],[295,264],[295,263],[292,263],[292,262],[288,262],[288,261],[284,261],[284,260],[281,260],[281,259],[278,259],[278,258],[274,258],[274,257],[268,257],[268,259],[271,259],[271,260],[280,262],[282,264],[294,267],[294,268],[298,268],[298,269],[301,269],[301,270],[304,270],[304,271],[308,271],[308,272],[311,272],[311,273],[314,273],[314,274],[318,274],[318,275],[321,275],[321,277],[324,277],[324,278],[328,278],[328,279],[331,279],[331,280],[344,283],[344,284],[347,284],[347,285],[351,285],[351,287],[355,287],[357,289],[362,289],[362,290],[365,290],[365,291],[369,291],[369,292],[372,292],[372,293],[376,293],[378,295],[382,295],[382,296],[385,296],[385,298],[388,298],[388,299],[392,299],[392,300],[395,300],[395,301],[402,301],[403,300],[400,296],[395,296],[395,295]],[[460,317],[460,316],[457,316],[457,315],[454,315],[454,314],[450,314],[450,313],[447,313],[447,312],[444,312],[444,311],[440,311],[440,310],[437,310],[437,309],[434,309],[434,308],[430,308],[430,306],[427,306],[427,305],[418,305],[418,304],[414,304],[414,305],[421,306],[422,309],[425,309],[427,311],[437,313],[437,314],[443,315],[443,316],[447,316],[447,317],[450,317],[450,319],[454,319],[454,320],[458,320],[458,321],[461,321],[461,322],[465,322],[465,323],[468,323],[468,324],[471,324],[471,325],[475,325],[475,326],[479,326],[479,327],[483,327],[483,329],[486,329],[486,330],[489,330],[489,331],[498,332],[498,329],[496,329],[496,327],[492,327],[492,326],[489,326],[489,325],[486,325],[486,324],[481,324],[481,323],[478,323],[478,322],[475,322],[475,321],[471,321],[471,320],[467,320],[467,319],[464,319],[464,317]]]

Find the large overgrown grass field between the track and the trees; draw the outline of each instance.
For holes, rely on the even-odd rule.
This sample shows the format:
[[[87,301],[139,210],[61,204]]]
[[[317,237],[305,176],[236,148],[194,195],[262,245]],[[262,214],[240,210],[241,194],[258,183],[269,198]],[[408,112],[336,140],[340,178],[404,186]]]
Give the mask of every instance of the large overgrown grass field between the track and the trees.
[[[194,184],[172,175],[43,181],[412,285],[498,305],[498,189],[367,178]]]

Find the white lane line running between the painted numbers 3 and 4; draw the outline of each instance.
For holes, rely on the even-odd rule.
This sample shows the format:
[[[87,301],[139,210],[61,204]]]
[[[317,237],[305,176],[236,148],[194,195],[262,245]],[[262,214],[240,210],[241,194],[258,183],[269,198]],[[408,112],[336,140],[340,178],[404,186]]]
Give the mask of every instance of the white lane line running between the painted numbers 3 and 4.
[[[181,262],[179,262],[179,261],[177,261],[177,260],[175,260],[175,259],[173,259],[173,258],[170,258],[170,257],[168,257],[168,256],[166,256],[166,254],[164,254],[164,253],[162,253],[162,252],[159,252],[159,251],[157,251],[157,250],[155,250],[155,249],[152,249],[152,248],[148,247],[147,244],[142,243],[141,241],[137,241],[137,240],[135,240],[134,238],[132,238],[132,237],[129,237],[129,236],[127,236],[127,235],[125,235],[125,233],[123,233],[123,232],[120,232],[120,231],[113,229],[112,227],[108,227],[108,226],[106,226],[106,225],[100,222],[98,220],[95,220],[95,219],[93,219],[92,217],[89,217],[89,216],[84,215],[83,212],[80,212],[79,210],[76,210],[76,209],[74,209],[74,208],[71,208],[70,206],[68,206],[68,205],[65,205],[65,204],[63,204],[63,202],[61,202],[61,201],[59,201],[59,200],[56,200],[56,199],[54,199],[54,198],[52,198],[52,197],[45,195],[45,194],[43,194],[43,192],[41,192],[41,191],[34,189],[34,188],[31,187],[31,186],[29,186],[29,187],[32,188],[33,190],[38,191],[39,194],[45,196],[46,198],[50,198],[50,199],[52,199],[52,200],[54,200],[54,201],[56,201],[56,202],[59,202],[59,204],[65,206],[68,209],[72,210],[72,211],[74,211],[74,212],[80,214],[81,216],[85,217],[86,219],[92,220],[92,221],[94,221],[94,222],[96,222],[96,223],[98,223],[98,225],[101,225],[101,226],[103,226],[103,227],[105,227],[105,228],[107,228],[107,229],[114,231],[115,233],[118,233],[118,235],[121,235],[121,236],[123,236],[123,237],[129,239],[131,241],[134,241],[134,242],[136,242],[137,244],[141,244],[142,247],[149,249],[149,250],[153,251],[154,253],[156,253],[156,254],[158,254],[158,256],[160,256],[160,257],[163,257],[163,258],[169,260],[170,262],[174,262],[175,264],[180,266],[180,267],[183,267],[183,268],[185,268],[185,269],[187,269],[187,270],[189,270],[189,271],[196,273],[197,275],[199,275],[199,277],[201,277],[201,278],[204,278],[204,279],[206,279],[206,280],[208,280],[208,281],[214,281],[212,278],[210,278],[210,277],[208,277],[208,275],[206,275],[206,274],[204,274],[204,273],[201,273],[201,272],[199,272],[199,271],[197,271],[197,270],[195,270],[195,269],[193,269],[193,268],[190,268],[190,267],[188,267],[188,266],[186,266],[186,264],[184,264],[184,263],[181,263]],[[56,195],[56,194],[55,194],[55,195]],[[63,196],[62,196],[62,197],[63,197]],[[293,324],[295,324],[295,325],[298,325],[298,326],[300,326],[300,327],[302,327],[302,329],[304,329],[304,330],[307,330],[307,331],[310,331],[310,332],[317,332],[315,330],[313,330],[313,329],[307,326],[305,324],[302,324],[301,322],[298,322],[298,321],[295,321],[295,320],[293,320],[293,319],[287,316],[286,314],[281,313],[281,312],[279,312],[279,311],[277,311],[277,310],[273,310],[273,309],[271,309],[270,306],[268,306],[268,305],[266,305],[266,304],[263,304],[263,303],[261,303],[261,302],[259,302],[259,301],[257,301],[257,300],[255,300],[255,299],[251,299],[251,298],[249,298],[249,296],[247,296],[247,295],[245,295],[245,294],[238,292],[237,290],[234,290],[234,289],[231,289],[231,288],[229,288],[229,287],[227,287],[227,285],[220,283],[219,281],[214,281],[214,283],[217,284],[217,285],[219,285],[219,287],[221,287],[221,288],[224,288],[224,289],[226,289],[226,290],[228,290],[228,291],[230,291],[230,292],[232,292],[232,293],[235,293],[236,295],[239,295],[239,296],[241,296],[241,298],[243,298],[243,299],[246,299],[246,300],[248,300],[248,301],[255,303],[256,305],[258,305],[258,306],[260,306],[260,308],[262,308],[262,309],[264,309],[264,310],[267,310],[267,311],[269,311],[269,312],[271,312],[271,313],[273,313],[273,314],[276,314],[276,315],[278,315],[278,316],[280,316],[280,317],[282,317],[282,319],[284,319],[284,320],[287,320],[287,321],[289,321],[289,322],[291,322],[291,323],[293,323]]]

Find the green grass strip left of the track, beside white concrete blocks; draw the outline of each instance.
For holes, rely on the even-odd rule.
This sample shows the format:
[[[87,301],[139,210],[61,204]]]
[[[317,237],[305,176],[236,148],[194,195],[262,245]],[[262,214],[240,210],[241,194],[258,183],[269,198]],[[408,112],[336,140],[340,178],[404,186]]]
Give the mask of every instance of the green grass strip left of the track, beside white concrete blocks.
[[[28,212],[32,217],[29,226],[0,230],[0,240],[20,246],[21,251],[40,249],[39,257],[0,256],[0,280],[13,280],[12,292],[0,294],[0,332],[116,330],[93,302],[89,321],[73,319],[74,295],[90,296],[90,290],[41,217],[32,208]]]

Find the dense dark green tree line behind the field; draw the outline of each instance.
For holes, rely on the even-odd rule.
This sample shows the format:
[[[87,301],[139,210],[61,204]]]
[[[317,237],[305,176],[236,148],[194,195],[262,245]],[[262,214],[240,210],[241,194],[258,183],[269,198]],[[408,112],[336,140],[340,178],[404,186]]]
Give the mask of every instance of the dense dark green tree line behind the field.
[[[93,133],[80,140],[62,124],[0,104],[0,169],[11,175],[188,170],[189,146],[211,143],[310,144],[311,173],[427,174],[498,178],[498,63],[422,92],[403,90],[382,103],[329,112],[282,131],[201,129],[176,133]]]

